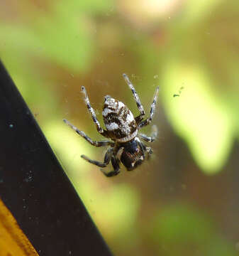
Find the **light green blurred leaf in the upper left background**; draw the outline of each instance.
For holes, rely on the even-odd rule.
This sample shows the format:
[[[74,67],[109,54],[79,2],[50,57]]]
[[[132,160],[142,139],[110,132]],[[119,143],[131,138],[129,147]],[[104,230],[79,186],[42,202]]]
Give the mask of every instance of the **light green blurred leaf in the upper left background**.
[[[21,50],[53,63],[84,71],[94,56],[94,24],[88,14],[109,11],[111,1],[58,1],[49,13],[35,11],[29,23],[1,23],[4,48]]]

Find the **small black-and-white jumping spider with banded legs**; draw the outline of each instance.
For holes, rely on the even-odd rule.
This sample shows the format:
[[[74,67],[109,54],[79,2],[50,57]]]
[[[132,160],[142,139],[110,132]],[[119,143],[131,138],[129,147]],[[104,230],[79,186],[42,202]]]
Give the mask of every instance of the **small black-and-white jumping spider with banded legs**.
[[[139,129],[150,124],[152,121],[159,87],[157,87],[155,91],[150,109],[150,117],[143,120],[145,110],[140,102],[140,98],[138,97],[138,94],[128,76],[123,74],[123,78],[126,80],[130,90],[133,93],[133,97],[140,114],[137,117],[133,117],[132,112],[128,109],[128,107],[126,107],[126,105],[123,104],[123,102],[115,100],[113,97],[106,95],[104,97],[104,107],[102,112],[106,129],[103,129],[99,124],[94,109],[91,107],[89,102],[87,90],[84,86],[82,86],[84,100],[93,122],[96,124],[96,129],[101,135],[109,138],[109,140],[95,142],[89,138],[87,134],[77,129],[77,127],[74,127],[74,125],[72,125],[69,121],[63,119],[66,124],[74,129],[77,134],[86,139],[87,142],[89,142],[92,146],[109,146],[109,149],[106,151],[104,156],[104,162],[91,160],[87,156],[82,155],[82,159],[101,168],[108,166],[109,162],[111,161],[113,171],[106,172],[104,169],[100,169],[106,177],[116,176],[119,174],[120,163],[122,163],[128,171],[131,171],[142,164],[145,157],[152,154],[152,149],[149,146],[145,146],[145,144],[140,141],[140,138],[145,142],[153,142],[157,137],[157,127],[155,125],[152,126],[152,134],[150,137],[146,136],[145,134],[140,134],[138,131]]]

